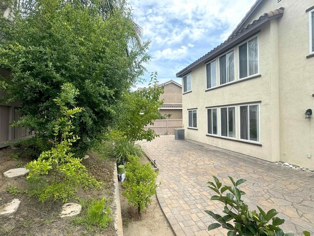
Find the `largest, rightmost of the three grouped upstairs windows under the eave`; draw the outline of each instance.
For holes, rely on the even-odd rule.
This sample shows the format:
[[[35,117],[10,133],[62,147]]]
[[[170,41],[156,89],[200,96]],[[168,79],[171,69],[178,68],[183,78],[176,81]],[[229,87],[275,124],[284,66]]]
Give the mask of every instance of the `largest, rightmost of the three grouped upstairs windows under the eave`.
[[[245,78],[258,73],[258,38],[254,37],[239,46],[239,78]]]

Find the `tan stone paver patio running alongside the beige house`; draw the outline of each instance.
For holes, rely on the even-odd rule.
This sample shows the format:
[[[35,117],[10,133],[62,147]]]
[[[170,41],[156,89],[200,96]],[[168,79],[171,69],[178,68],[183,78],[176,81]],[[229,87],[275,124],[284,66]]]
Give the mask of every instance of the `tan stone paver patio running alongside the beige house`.
[[[159,204],[177,236],[226,236],[224,229],[207,231],[213,219],[204,212],[222,213],[222,205],[210,201],[213,192],[207,186],[216,176],[231,185],[228,176],[244,178],[240,185],[249,207],[265,211],[275,208],[286,222],[285,233],[314,235],[314,173],[293,170],[239,153],[190,140],[174,140],[165,135],[142,142],[146,154],[159,167],[157,188]]]

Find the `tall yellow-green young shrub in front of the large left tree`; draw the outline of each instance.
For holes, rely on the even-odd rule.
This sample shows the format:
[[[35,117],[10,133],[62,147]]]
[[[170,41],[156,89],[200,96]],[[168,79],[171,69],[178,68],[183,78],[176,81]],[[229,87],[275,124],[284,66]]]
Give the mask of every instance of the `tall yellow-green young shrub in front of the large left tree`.
[[[33,160],[26,165],[30,170],[27,180],[31,182],[41,180],[41,183],[46,180],[48,183],[33,186],[33,191],[30,192],[30,195],[39,197],[42,202],[52,197],[54,201],[66,202],[68,198],[74,196],[79,185],[97,188],[101,185],[101,182],[88,175],[85,166],[81,163],[82,160],[76,158],[71,151],[72,144],[79,139],[73,133],[75,127],[72,118],[83,109],[79,107],[69,109],[66,104],[75,104],[78,90],[69,83],[63,85],[61,89],[59,96],[53,99],[60,109],[60,114],[53,122],[52,148],[43,151],[38,160]]]

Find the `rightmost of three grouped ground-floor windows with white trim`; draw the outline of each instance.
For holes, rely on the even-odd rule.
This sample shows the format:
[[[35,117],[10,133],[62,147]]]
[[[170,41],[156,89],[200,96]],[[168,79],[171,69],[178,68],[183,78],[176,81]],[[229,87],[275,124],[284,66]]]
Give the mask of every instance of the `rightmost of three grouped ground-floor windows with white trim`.
[[[259,105],[240,106],[240,139],[259,142]]]

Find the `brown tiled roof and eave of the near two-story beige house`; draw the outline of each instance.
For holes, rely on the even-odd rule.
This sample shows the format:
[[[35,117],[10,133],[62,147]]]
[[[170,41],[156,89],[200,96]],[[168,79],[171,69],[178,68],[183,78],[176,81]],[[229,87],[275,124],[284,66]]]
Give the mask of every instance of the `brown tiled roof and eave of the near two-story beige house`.
[[[260,4],[261,1],[257,1],[254,6],[256,4]],[[255,8],[253,9],[253,11],[255,10]],[[241,26],[238,26],[236,29],[237,31],[234,30],[234,32],[229,36],[229,38],[224,41],[223,43],[221,43],[220,45],[218,45],[217,47],[215,47],[214,49],[212,49],[209,53],[207,53],[206,55],[204,55],[203,57],[201,57],[200,59],[197,59],[196,61],[194,61],[193,63],[191,63],[190,65],[188,65],[187,67],[185,67],[183,70],[181,70],[180,72],[178,72],[176,74],[177,77],[182,77],[184,74],[187,74],[191,71],[191,69],[201,63],[207,63],[209,62],[209,60],[214,59],[215,57],[219,56],[220,54],[228,51],[229,49],[235,47],[235,45],[237,45],[239,42],[245,40],[246,38],[253,36],[254,34],[259,32],[259,27],[261,27],[263,24],[265,24],[266,22],[275,19],[275,18],[280,18],[283,16],[284,14],[284,10],[285,8],[281,7],[277,10],[268,12],[263,14],[258,20],[255,20],[252,22],[252,24],[249,24],[247,27],[240,29],[241,26],[243,26],[244,19],[247,20],[247,18],[250,16],[246,16],[242,21]],[[251,13],[252,14],[252,13]]]

